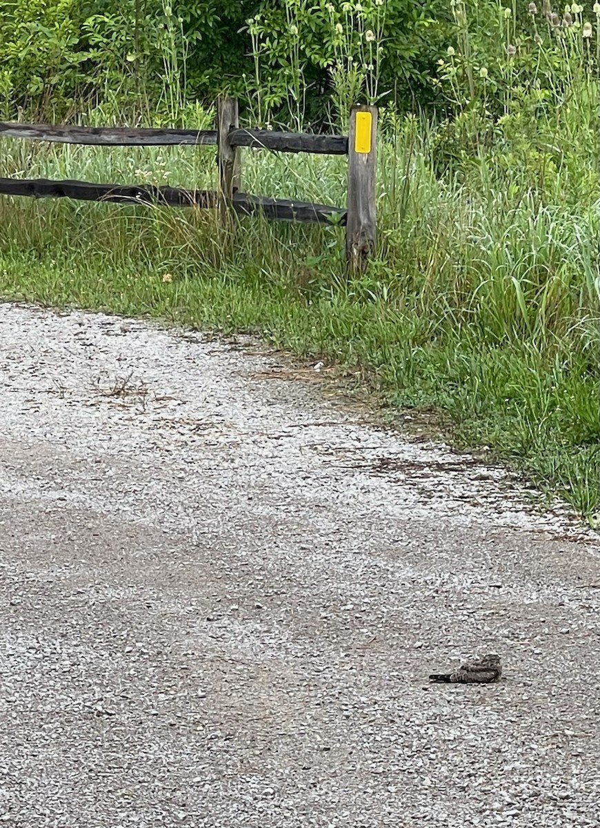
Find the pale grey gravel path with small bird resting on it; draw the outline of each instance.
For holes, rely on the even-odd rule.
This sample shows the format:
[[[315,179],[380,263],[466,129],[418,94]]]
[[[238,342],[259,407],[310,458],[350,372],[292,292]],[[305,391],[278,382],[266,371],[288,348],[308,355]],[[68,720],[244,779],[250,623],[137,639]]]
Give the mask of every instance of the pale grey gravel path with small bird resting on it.
[[[0,822],[600,826],[593,532],[247,344],[6,304],[0,372]]]

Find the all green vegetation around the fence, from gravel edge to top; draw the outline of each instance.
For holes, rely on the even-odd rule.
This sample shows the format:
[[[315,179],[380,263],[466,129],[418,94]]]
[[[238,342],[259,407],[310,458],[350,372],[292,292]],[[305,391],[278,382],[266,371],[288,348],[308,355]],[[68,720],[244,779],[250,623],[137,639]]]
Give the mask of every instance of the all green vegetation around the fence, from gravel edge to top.
[[[579,512],[598,508],[600,5],[492,0],[2,2],[4,118],[344,128],[382,107],[380,248],[341,231],[0,202],[0,292],[260,331],[395,406],[443,414]],[[214,185],[214,151],[3,140],[2,175]],[[343,205],[345,161],[243,156],[244,187]]]

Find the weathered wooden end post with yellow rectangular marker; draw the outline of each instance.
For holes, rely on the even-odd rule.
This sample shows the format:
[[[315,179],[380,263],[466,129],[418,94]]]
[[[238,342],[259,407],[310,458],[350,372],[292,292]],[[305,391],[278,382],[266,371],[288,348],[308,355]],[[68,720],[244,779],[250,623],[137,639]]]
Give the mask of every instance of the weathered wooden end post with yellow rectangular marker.
[[[346,258],[348,270],[362,273],[377,243],[375,166],[377,107],[356,106],[348,132],[348,219]]]

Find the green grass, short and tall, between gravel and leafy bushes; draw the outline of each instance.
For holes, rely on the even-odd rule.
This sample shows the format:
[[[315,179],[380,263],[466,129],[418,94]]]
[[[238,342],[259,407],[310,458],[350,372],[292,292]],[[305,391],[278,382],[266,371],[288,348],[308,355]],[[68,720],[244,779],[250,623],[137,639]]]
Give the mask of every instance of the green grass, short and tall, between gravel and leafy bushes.
[[[348,280],[343,231],[209,212],[2,198],[0,294],[250,330],[360,369],[392,407],[439,412],[574,511],[598,510],[598,184],[593,152],[439,173],[408,119],[382,142],[380,248]],[[552,157],[550,157],[552,156]],[[2,175],[214,185],[214,151],[0,142]],[[532,162],[533,163],[533,162]],[[540,168],[536,158],[536,168]],[[151,171],[148,174],[147,171]],[[343,205],[345,160],[243,156],[248,192]]]

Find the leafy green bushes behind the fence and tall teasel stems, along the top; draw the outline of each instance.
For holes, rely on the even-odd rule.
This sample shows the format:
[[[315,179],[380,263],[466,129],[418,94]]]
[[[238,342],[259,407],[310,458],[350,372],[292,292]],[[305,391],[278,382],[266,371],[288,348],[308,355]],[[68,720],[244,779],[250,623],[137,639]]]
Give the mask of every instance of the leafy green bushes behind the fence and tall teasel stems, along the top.
[[[130,108],[156,108],[166,62],[185,65],[185,95],[257,92],[247,21],[262,19],[261,84],[287,82],[290,32],[282,0],[0,0],[0,103],[4,118],[69,115],[118,94]],[[302,34],[310,117],[326,110],[331,51],[324,0]],[[343,3],[336,2],[336,7]],[[299,4],[300,6],[300,4]],[[386,0],[382,89],[401,103],[435,99],[431,84],[449,12],[439,0]],[[175,52],[175,53],[174,53]],[[279,86],[277,86],[279,84]]]

